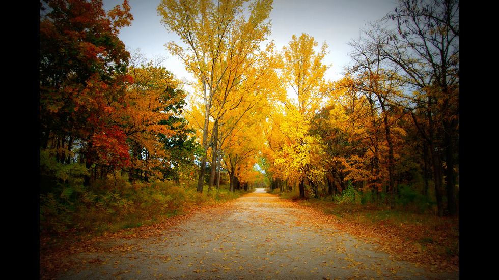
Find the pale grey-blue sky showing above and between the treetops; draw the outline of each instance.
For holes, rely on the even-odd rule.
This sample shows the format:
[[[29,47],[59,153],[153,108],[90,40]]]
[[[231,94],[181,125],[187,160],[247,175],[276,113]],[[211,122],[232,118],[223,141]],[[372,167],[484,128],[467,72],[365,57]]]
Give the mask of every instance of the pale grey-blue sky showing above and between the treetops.
[[[183,64],[168,53],[164,44],[178,40],[177,35],[168,33],[157,15],[160,0],[129,0],[133,21],[131,26],[120,30],[119,37],[132,54],[140,48],[148,58],[167,58],[163,66],[179,79],[192,80]],[[122,0],[103,0],[108,11]],[[348,53],[352,48],[348,42],[361,35],[360,30],[367,23],[382,18],[393,11],[397,0],[274,0],[270,13],[272,34],[276,50],[288,45],[292,36],[306,33],[317,41],[318,49],[325,42],[329,54],[324,64],[331,65],[326,79],[331,81],[342,77],[343,66],[350,62]]]

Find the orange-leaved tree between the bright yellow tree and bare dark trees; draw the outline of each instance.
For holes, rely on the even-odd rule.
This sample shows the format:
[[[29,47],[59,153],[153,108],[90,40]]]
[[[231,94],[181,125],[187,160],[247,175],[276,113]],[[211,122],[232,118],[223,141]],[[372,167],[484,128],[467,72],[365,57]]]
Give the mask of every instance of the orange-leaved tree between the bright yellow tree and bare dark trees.
[[[319,116],[313,119],[312,132],[319,134],[325,146],[325,163],[330,176],[344,190],[347,182],[377,189],[380,177],[376,150],[379,146],[378,119],[373,115],[372,104],[362,94],[349,86],[345,77],[336,83],[331,92],[327,121],[320,126]]]

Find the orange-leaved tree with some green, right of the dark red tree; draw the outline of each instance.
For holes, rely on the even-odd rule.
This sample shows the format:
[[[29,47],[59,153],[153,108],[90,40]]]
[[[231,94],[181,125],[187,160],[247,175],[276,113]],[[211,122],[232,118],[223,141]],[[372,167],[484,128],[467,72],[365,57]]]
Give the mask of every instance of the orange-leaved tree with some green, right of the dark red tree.
[[[120,116],[121,126],[131,148],[131,178],[178,181],[178,169],[193,162],[196,146],[181,115],[186,93],[161,63],[162,59],[148,62],[141,54],[134,55],[128,70],[134,82]]]

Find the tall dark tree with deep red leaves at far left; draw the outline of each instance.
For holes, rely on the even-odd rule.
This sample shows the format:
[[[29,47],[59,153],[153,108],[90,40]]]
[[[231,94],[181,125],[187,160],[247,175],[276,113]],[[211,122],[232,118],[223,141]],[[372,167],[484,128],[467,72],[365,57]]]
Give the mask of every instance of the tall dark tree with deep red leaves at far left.
[[[129,163],[126,136],[109,118],[131,83],[118,38],[129,11],[126,0],[107,13],[98,0],[40,2],[40,150],[61,163],[76,162],[76,151],[87,168]]]

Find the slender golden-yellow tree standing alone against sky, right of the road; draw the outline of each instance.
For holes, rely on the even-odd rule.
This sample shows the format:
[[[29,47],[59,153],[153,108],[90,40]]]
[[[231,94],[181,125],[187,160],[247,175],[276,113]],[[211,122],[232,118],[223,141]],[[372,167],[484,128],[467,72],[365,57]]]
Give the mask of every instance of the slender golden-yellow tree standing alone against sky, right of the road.
[[[311,151],[316,150],[318,142],[308,134],[310,118],[324,102],[328,94],[328,83],[324,80],[328,66],[322,64],[327,45],[324,43],[319,52],[314,47],[318,44],[313,37],[302,34],[299,38],[293,35],[288,46],[281,53],[282,65],[280,74],[281,90],[291,87],[296,98],[281,95],[286,118],[283,122],[274,122],[275,126],[286,135],[285,145],[276,151],[275,164],[281,165],[287,178],[299,182],[300,197],[305,197],[304,180],[314,184],[322,169],[312,168]],[[274,118],[274,120],[277,118]],[[281,172],[282,173],[282,172]]]

